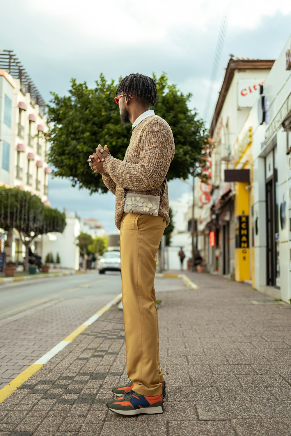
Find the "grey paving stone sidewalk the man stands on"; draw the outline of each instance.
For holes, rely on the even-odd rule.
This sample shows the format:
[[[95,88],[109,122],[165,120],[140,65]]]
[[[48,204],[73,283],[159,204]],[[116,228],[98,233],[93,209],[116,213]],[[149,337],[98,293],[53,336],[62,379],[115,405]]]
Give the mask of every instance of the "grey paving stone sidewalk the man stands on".
[[[127,382],[122,312],[113,307],[0,405],[0,436],[290,436],[291,306],[219,276],[164,279],[162,415],[108,411]],[[178,283],[178,282],[177,282]],[[169,290],[172,289],[172,290]]]

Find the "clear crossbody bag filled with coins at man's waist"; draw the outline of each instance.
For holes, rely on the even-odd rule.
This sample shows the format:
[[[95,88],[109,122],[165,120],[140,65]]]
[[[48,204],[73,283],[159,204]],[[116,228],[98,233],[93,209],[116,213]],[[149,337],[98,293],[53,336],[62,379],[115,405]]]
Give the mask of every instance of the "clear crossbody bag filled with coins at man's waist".
[[[166,183],[167,176],[164,179],[161,197],[158,195],[133,194],[132,192],[128,192],[128,189],[123,188],[125,198],[124,212],[157,216],[160,203],[163,199]]]

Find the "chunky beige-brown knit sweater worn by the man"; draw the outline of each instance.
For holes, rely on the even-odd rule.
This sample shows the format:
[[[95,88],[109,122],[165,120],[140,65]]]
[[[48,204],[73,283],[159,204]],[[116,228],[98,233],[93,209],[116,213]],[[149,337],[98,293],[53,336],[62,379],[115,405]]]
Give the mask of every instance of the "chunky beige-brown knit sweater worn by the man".
[[[133,130],[124,160],[106,157],[103,182],[115,194],[115,224],[120,229],[124,211],[124,190],[161,196],[162,184],[175,154],[173,133],[168,123],[157,115],[148,116]],[[159,207],[159,215],[169,225],[168,184]]]

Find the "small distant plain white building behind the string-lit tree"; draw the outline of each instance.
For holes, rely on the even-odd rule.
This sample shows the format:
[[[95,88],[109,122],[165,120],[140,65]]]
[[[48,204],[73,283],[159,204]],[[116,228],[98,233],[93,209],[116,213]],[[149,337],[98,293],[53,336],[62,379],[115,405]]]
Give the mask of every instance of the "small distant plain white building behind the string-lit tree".
[[[80,234],[80,221],[75,213],[66,213],[66,227],[63,233],[48,233],[42,236],[42,261],[52,253],[54,261],[60,256],[60,268],[79,269],[79,247],[76,238]]]

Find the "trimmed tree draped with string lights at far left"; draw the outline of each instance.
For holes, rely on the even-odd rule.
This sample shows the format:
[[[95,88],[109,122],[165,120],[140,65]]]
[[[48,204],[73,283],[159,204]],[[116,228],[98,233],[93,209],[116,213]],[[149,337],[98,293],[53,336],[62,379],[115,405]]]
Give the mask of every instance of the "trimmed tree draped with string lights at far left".
[[[65,214],[44,206],[37,195],[18,188],[0,187],[0,227],[19,232],[25,246],[24,270],[28,271],[28,253],[31,242],[38,235],[65,229]]]

